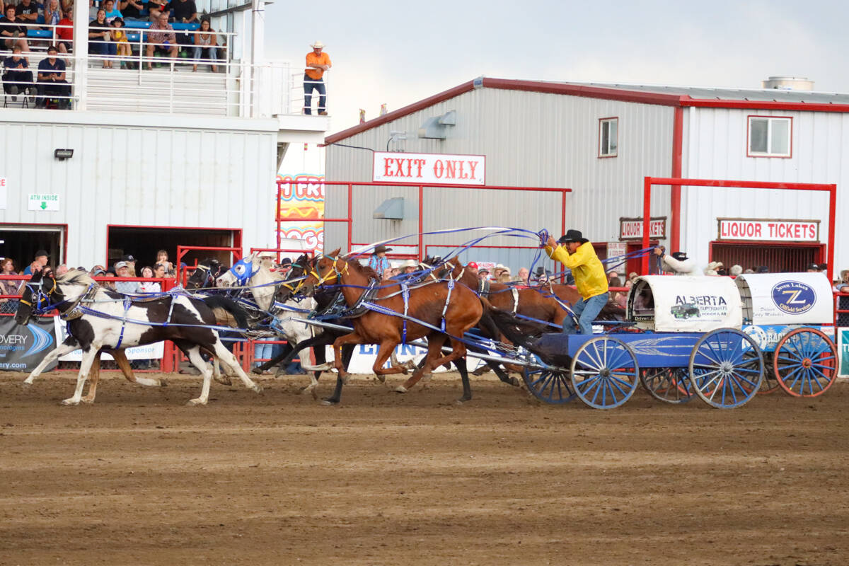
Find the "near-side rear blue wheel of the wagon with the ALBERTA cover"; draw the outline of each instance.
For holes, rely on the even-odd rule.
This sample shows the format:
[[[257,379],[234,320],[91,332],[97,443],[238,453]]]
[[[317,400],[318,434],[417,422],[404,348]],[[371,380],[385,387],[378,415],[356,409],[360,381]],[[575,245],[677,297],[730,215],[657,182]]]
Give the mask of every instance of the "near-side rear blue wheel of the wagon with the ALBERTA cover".
[[[763,356],[749,334],[720,328],[696,342],[689,372],[695,394],[702,401],[717,409],[731,409],[757,394],[763,378]]]

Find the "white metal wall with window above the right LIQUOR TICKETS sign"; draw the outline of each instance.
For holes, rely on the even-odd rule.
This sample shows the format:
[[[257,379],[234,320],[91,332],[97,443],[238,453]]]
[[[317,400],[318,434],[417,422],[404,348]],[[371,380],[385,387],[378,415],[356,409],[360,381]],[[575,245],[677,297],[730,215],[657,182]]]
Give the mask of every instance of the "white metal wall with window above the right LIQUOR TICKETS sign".
[[[748,116],[793,118],[792,156],[747,157]],[[835,272],[849,266],[849,115],[745,109],[690,108],[685,112],[683,177],[744,181],[837,183]],[[734,188],[682,188],[682,248],[700,265],[717,239],[717,217],[821,220],[828,243],[828,193]],[[745,266],[748,267],[748,266]]]

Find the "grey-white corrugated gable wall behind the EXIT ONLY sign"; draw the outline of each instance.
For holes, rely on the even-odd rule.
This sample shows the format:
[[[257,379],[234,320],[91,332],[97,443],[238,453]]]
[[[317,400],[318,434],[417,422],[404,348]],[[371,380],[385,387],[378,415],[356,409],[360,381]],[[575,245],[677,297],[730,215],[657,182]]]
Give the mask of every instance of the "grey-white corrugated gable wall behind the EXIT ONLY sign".
[[[596,242],[616,241],[620,216],[641,216],[643,177],[668,176],[672,171],[673,109],[597,98],[541,92],[480,88],[382,126],[341,140],[346,145],[385,151],[390,131],[413,134],[424,120],[448,110],[457,111],[457,125],[448,126],[445,140],[408,139],[408,152],[486,155],[486,184],[571,188],[566,224]],[[619,118],[619,154],[599,159],[599,119]],[[412,136],[411,136],[412,137]],[[391,146],[394,148],[394,145]],[[368,181],[372,153],[330,146],[329,181]],[[327,216],[346,216],[346,189],[327,188]],[[436,191],[439,191],[436,193]],[[424,230],[501,223],[539,230],[560,229],[558,193],[468,193],[430,189],[425,196]],[[467,192],[463,190],[462,192]],[[374,242],[417,233],[414,188],[355,189],[355,242]],[[429,193],[430,194],[430,193]],[[403,221],[373,220],[383,200],[403,196],[408,215]],[[657,190],[652,215],[669,213],[669,191]],[[325,227],[328,249],[345,242],[341,224]],[[430,243],[446,238],[429,238]],[[456,238],[455,238],[456,241]],[[503,241],[500,244],[515,244]]]

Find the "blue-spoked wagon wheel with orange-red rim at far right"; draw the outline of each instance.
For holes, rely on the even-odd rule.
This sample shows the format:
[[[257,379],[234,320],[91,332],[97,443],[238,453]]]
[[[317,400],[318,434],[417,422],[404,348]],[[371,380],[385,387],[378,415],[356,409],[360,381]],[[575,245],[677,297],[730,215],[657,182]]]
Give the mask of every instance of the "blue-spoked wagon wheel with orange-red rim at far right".
[[[835,343],[816,328],[796,328],[775,346],[775,377],[794,397],[823,395],[837,378]]]

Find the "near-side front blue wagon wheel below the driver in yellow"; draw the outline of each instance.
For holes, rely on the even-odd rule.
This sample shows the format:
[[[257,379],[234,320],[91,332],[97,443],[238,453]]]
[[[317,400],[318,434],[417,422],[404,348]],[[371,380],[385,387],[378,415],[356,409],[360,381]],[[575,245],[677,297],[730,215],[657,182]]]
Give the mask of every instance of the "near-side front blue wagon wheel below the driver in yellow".
[[[572,389],[595,409],[612,409],[631,398],[639,383],[637,356],[620,339],[600,336],[572,357]]]

